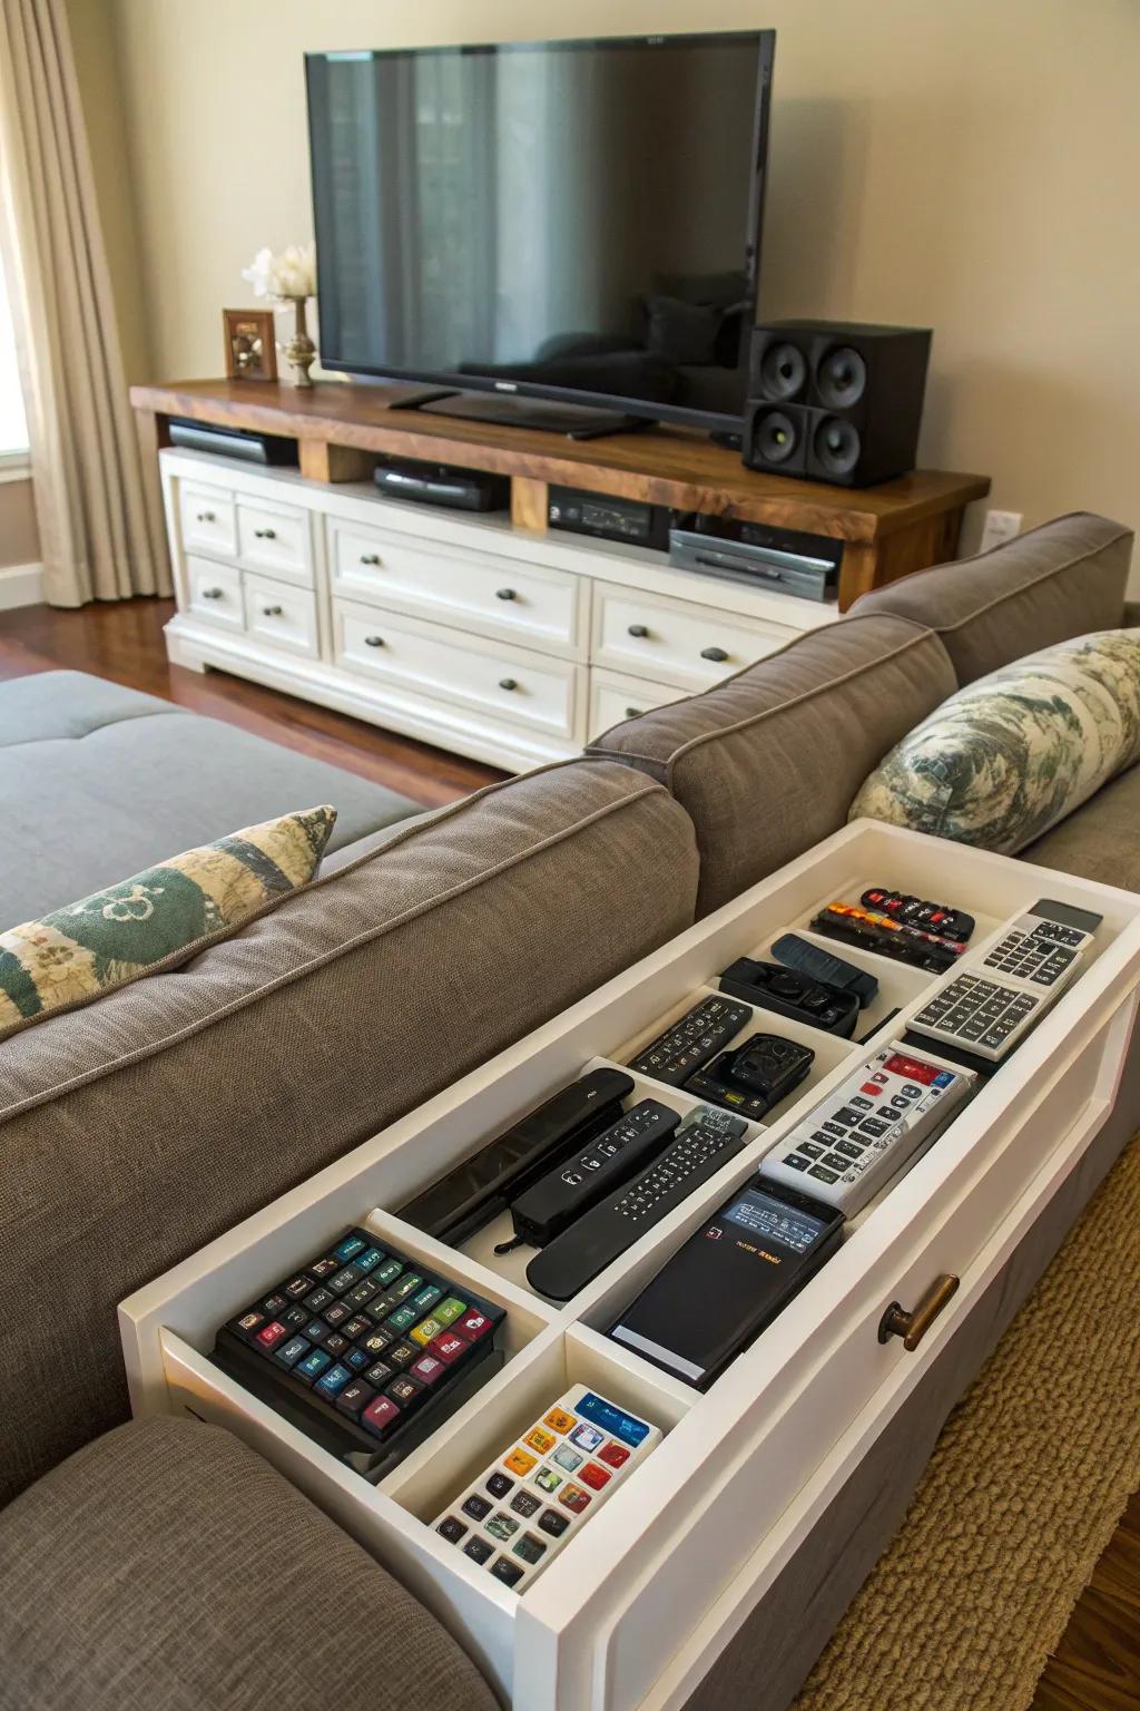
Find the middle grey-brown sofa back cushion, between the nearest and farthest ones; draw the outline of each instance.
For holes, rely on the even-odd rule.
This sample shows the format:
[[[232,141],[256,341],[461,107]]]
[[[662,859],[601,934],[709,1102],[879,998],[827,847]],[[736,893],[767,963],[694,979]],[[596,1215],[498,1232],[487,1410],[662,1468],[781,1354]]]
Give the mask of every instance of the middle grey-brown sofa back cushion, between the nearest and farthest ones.
[[[836,832],[872,767],[955,686],[930,630],[849,618],[588,753],[649,773],[690,814],[706,915]]]

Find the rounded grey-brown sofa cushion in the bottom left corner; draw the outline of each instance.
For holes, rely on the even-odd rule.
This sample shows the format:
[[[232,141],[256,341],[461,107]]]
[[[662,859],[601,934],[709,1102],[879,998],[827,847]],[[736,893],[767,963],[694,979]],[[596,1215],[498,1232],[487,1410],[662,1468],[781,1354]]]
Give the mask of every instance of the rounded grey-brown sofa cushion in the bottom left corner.
[[[439,1622],[231,1432],[150,1420],[0,1516],[0,1711],[494,1711]]]

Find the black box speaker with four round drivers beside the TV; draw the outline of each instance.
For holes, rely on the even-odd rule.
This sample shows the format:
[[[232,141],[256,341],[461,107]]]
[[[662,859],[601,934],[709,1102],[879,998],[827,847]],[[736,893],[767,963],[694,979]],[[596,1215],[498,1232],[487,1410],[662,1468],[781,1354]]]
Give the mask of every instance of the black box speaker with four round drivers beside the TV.
[[[914,469],[930,329],[769,322],[752,334],[742,457],[867,488]]]

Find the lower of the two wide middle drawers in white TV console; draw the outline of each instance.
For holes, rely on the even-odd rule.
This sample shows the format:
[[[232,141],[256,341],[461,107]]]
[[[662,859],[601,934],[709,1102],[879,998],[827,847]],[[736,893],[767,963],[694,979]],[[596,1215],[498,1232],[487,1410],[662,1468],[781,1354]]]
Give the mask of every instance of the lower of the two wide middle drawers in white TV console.
[[[393,688],[578,737],[579,666],[350,601],[333,601],[333,630],[338,666]]]

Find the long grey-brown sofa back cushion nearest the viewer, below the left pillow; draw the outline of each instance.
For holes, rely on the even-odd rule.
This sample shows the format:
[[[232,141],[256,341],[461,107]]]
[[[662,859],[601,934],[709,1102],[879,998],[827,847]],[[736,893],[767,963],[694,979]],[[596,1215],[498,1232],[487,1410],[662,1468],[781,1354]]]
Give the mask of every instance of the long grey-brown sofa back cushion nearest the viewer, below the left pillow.
[[[696,885],[692,825],[660,785],[567,763],[14,1035],[0,1502],[125,1418],[125,1295],[690,926]],[[67,1323],[32,1287],[62,1232]]]

